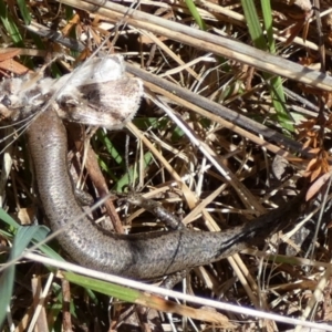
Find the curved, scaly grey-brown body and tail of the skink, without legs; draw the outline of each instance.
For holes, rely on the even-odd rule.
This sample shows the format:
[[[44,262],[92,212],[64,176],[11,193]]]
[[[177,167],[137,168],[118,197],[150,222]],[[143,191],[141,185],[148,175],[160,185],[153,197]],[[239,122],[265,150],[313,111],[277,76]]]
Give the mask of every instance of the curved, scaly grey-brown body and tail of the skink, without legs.
[[[243,226],[222,232],[178,230],[139,235],[105,234],[77,204],[66,163],[66,132],[50,107],[28,129],[38,189],[51,229],[80,264],[133,279],[152,279],[214,262],[256,245],[291,221],[303,194]]]

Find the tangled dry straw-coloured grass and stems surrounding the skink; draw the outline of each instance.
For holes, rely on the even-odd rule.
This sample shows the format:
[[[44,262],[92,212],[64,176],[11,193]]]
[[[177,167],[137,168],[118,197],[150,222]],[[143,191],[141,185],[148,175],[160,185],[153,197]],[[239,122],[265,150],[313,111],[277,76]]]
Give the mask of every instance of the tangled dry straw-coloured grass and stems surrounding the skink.
[[[92,139],[110,189],[120,191],[127,186],[134,187],[180,215],[185,225],[212,231],[238,225],[245,218],[252,219],[288,201],[303,176],[312,184],[309,196],[325,193],[331,160],[332,19],[329,6],[324,8],[321,1],[321,33],[314,12],[305,11],[305,1],[295,1],[294,6],[273,1],[277,54],[270,54],[252,46],[242,7],[237,1],[197,2],[196,9],[206,31],[197,28],[184,2],[141,1],[137,4],[124,1],[106,2],[102,7],[94,2],[101,1],[30,3],[28,9],[35,31],[41,33],[52,27],[63,33],[60,43],[44,38],[40,41],[49,51],[45,52],[23,29],[23,13],[8,1],[11,20],[23,39],[21,44],[13,43],[2,21],[1,28],[7,31],[2,43],[14,50],[10,55],[0,56],[0,69],[3,74],[10,71],[19,74],[21,63],[37,68],[41,63],[40,56],[51,60],[55,53],[65,54],[56,62],[58,68],[52,68],[54,74],[71,69],[73,58],[92,56],[96,49],[124,54],[127,71],[144,81],[146,96],[135,121],[127,126],[131,133],[129,169],[124,160],[124,131],[107,135],[100,131]],[[66,6],[82,10],[72,11]],[[258,13],[261,15],[260,11]],[[68,20],[69,15],[71,20]],[[63,45],[64,37],[71,38],[69,42],[76,48],[75,52]],[[80,43],[73,44],[73,40],[80,40]],[[272,93],[276,77],[281,79],[282,94],[287,96],[281,101],[284,113],[276,110],[276,94]],[[4,208],[22,220],[35,206],[29,189],[32,180],[27,172],[29,156],[24,141],[17,141],[9,152],[13,167],[10,186],[3,194],[7,197]],[[280,170],[277,169],[279,166]],[[4,187],[2,190],[4,193]],[[314,208],[320,210],[318,203],[309,210]],[[124,217],[125,211],[117,210]],[[308,217],[297,225],[295,231],[288,230],[267,239],[264,248],[248,249],[246,255],[235,255],[188,273],[185,287],[189,294],[237,304],[243,311],[232,312],[230,308],[222,309],[211,302],[199,303],[215,305],[219,312],[200,307],[195,311],[155,298],[148,303],[146,294],[135,294],[132,301],[173,312],[175,318],[160,315],[145,322],[149,311],[142,307],[128,310],[136,314],[143,330],[153,329],[148,322],[154,322],[155,326],[163,323],[168,330],[170,321],[174,329],[188,331],[194,330],[194,325],[197,330],[215,326],[235,331],[287,331],[297,325],[295,321],[291,324],[264,312],[329,322],[329,211],[326,207],[323,216]],[[133,221],[134,227],[143,219],[154,227],[154,219],[139,209],[132,209],[125,218]],[[8,230],[3,227],[1,232],[4,247],[10,238]],[[2,255],[1,260],[6,259]],[[33,259],[39,258],[33,256]],[[107,279],[101,273],[89,276]],[[73,283],[66,283],[66,279]],[[131,284],[129,281],[112,280]],[[38,323],[46,321],[46,325],[55,331],[61,330],[61,312],[64,326],[69,330],[73,326],[75,331],[111,331],[125,322],[121,311],[126,307],[112,299],[110,310],[108,298],[76,286],[83,283],[84,280],[68,274],[64,279],[50,274],[37,262],[19,264],[3,330],[9,330],[12,319],[17,331],[28,331],[37,310],[41,311]],[[98,287],[102,288],[101,284],[87,286],[95,290]],[[137,283],[132,287],[146,291]],[[148,289],[158,293],[157,289]],[[42,299],[42,291],[46,299]],[[116,291],[114,297],[121,297]],[[108,291],[104,293],[110,294]],[[257,309],[262,314],[255,317],[245,308]],[[185,315],[195,321],[187,321]],[[40,328],[40,331],[46,331],[44,329],[48,328]]]

